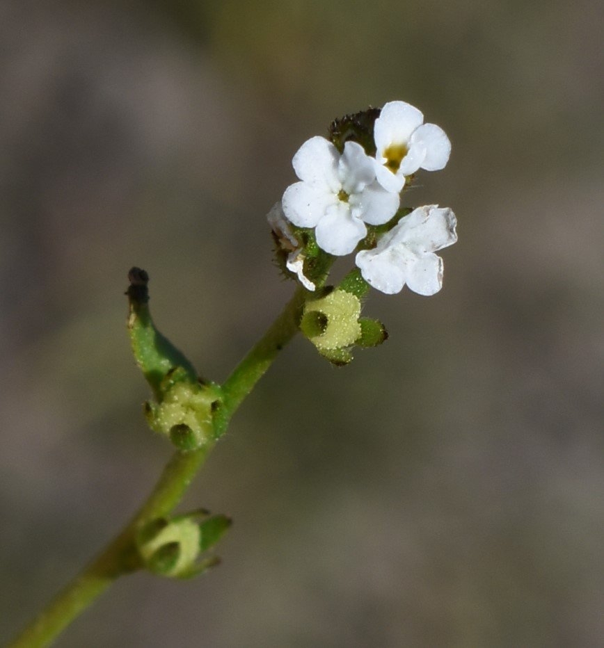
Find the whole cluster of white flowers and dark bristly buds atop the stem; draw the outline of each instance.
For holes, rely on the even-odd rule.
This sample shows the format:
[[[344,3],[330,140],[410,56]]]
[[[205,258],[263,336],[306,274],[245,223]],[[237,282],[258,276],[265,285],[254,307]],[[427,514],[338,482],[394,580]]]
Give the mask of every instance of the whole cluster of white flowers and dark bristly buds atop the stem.
[[[403,210],[400,200],[415,172],[444,168],[450,152],[443,129],[405,102],[348,115],[333,122],[330,139],[310,138],[292,161],[299,181],[269,213],[286,273],[315,291],[333,257],[356,251],[375,289],[434,295],[443,280],[435,252],[456,241],[454,213]]]

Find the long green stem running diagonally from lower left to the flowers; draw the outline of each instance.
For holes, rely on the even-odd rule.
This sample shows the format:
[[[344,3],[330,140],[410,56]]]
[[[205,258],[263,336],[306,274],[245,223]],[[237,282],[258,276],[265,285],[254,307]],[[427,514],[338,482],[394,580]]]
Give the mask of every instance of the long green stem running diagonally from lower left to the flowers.
[[[296,334],[303,301],[304,293],[299,289],[223,384],[223,403],[216,413],[217,437],[226,430],[237,407],[262,378],[279,351]],[[213,447],[214,443],[189,453],[175,453],[134,518],[7,648],[42,648],[50,645],[118,576],[140,569],[142,564],[136,551],[136,531],[146,522],[170,514]]]

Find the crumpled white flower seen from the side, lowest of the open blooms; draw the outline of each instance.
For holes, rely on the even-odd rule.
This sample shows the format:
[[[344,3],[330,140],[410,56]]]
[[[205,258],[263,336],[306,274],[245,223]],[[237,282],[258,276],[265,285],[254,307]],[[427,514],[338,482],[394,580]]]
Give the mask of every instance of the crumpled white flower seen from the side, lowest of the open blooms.
[[[434,295],[443,286],[443,259],[434,252],[457,240],[455,214],[447,207],[414,209],[384,234],[373,250],[356,255],[363,279],[392,295],[407,286],[420,295]]]

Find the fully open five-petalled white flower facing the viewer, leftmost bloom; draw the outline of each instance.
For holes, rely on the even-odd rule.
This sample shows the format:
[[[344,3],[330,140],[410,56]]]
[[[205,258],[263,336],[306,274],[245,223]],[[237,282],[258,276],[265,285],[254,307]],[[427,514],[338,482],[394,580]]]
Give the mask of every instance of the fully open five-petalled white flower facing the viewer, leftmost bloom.
[[[301,182],[283,194],[285,216],[298,227],[315,227],[317,245],[329,254],[349,254],[367,234],[365,222],[383,225],[399,208],[399,195],[376,182],[374,161],[356,142],[340,155],[325,138],[310,138],[292,164]]]

